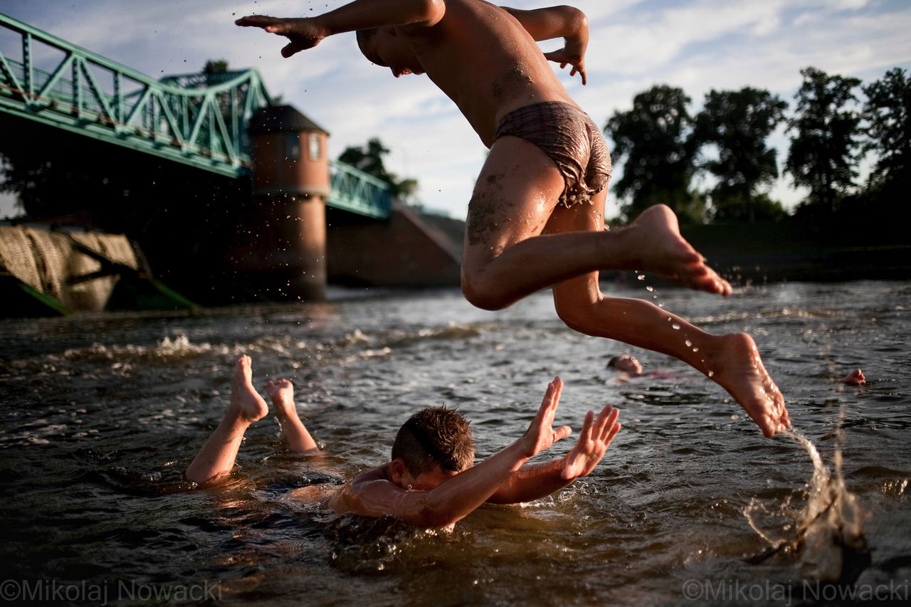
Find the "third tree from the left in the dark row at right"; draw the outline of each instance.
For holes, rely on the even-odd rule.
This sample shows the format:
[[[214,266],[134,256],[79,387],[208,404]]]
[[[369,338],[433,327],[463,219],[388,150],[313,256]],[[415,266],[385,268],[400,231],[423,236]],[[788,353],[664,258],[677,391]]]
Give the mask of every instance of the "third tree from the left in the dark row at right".
[[[791,149],[786,170],[794,183],[809,188],[806,205],[833,214],[854,186],[861,151],[860,114],[854,89],[860,80],[829,76],[815,67],[801,70],[804,83],[790,120]]]

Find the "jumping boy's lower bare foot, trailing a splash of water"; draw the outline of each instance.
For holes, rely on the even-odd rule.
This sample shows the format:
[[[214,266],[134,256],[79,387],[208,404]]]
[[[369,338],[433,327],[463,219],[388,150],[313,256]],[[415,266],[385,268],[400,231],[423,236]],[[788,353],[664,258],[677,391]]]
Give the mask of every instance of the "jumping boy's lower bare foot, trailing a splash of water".
[[[766,437],[791,426],[784,396],[765,370],[750,335],[722,336],[722,347],[710,377],[731,393]]]

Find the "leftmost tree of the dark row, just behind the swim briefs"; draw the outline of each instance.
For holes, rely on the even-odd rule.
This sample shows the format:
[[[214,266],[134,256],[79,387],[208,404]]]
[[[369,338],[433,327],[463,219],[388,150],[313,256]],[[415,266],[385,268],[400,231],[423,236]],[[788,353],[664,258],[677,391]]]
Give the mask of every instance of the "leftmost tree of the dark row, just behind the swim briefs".
[[[690,103],[681,88],[656,85],[633,98],[632,109],[614,112],[605,126],[613,140],[613,160],[623,174],[614,184],[630,220],[663,202],[682,221],[702,221],[704,202],[690,190],[693,149]]]

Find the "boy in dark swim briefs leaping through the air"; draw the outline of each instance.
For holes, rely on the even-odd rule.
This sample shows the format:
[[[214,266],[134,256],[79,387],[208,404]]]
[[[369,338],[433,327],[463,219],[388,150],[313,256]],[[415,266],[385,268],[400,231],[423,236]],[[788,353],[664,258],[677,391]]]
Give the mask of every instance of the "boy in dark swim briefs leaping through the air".
[[[599,270],[658,273],[728,295],[731,285],[682,237],[664,205],[607,231],[610,159],[600,129],[548,60],[585,84],[589,26],[571,6],[516,10],[484,0],[355,0],[312,18],[252,15],[239,26],[286,36],[291,57],[357,31],[363,55],[395,77],[426,74],[490,149],[468,204],[462,290],[496,310],[550,287],[571,328],[681,359],[726,389],[767,437],[790,426],[748,334],[709,334],[640,299],[604,296]],[[536,41],[563,38],[542,54]]]

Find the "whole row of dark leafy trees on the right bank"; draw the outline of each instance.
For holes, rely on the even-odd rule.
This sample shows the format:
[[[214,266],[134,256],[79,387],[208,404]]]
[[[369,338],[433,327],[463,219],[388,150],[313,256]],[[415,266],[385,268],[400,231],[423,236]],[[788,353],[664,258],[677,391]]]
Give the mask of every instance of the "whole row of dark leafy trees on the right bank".
[[[790,109],[768,90],[710,90],[693,115],[680,87],[656,85],[611,116],[604,131],[622,167],[613,182],[624,219],[668,204],[681,221],[778,221],[787,213],[769,189],[783,173],[808,191],[794,211],[805,221],[838,221],[862,211],[880,220],[906,214],[911,185],[911,81],[896,67],[862,86],[855,77],[801,70]],[[864,96],[861,99],[858,93]],[[784,126],[790,148],[779,170],[768,139]],[[868,156],[869,155],[869,156]],[[872,159],[859,180],[863,159]],[[709,178],[711,187],[694,183]]]

